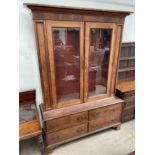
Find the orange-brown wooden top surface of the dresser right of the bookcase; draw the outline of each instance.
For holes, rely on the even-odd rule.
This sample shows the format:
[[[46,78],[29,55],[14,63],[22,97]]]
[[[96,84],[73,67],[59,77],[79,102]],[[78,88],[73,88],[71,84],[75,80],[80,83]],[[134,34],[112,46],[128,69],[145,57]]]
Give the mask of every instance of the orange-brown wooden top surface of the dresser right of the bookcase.
[[[125,79],[125,80],[119,80],[116,86],[116,89],[118,89],[121,92],[128,92],[135,90],[135,80],[133,78],[131,79]]]

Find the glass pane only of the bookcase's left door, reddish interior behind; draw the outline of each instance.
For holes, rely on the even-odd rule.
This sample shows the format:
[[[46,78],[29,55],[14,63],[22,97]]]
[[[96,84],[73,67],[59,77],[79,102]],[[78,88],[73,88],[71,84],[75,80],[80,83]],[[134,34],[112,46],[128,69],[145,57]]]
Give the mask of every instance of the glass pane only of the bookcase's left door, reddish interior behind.
[[[80,98],[79,28],[53,28],[58,102]]]

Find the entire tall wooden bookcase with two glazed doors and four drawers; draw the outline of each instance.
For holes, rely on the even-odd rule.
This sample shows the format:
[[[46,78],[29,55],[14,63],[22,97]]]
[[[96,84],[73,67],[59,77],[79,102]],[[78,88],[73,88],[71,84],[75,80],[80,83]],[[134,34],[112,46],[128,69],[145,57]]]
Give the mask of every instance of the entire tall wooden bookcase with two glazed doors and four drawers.
[[[115,97],[124,19],[129,12],[26,4],[32,11],[48,153],[65,142],[116,127]]]

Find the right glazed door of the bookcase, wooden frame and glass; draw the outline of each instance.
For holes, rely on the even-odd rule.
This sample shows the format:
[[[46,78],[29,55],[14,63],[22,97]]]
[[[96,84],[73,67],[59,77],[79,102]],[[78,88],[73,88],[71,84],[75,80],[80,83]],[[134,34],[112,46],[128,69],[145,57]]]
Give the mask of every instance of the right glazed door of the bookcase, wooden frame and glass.
[[[86,23],[84,101],[110,96],[116,26]]]

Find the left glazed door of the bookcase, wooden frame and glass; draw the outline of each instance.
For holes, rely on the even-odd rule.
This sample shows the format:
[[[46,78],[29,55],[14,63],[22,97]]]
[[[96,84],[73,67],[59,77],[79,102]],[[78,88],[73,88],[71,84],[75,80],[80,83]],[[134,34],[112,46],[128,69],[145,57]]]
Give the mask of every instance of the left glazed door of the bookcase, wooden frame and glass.
[[[54,108],[83,102],[83,24],[46,21]]]

